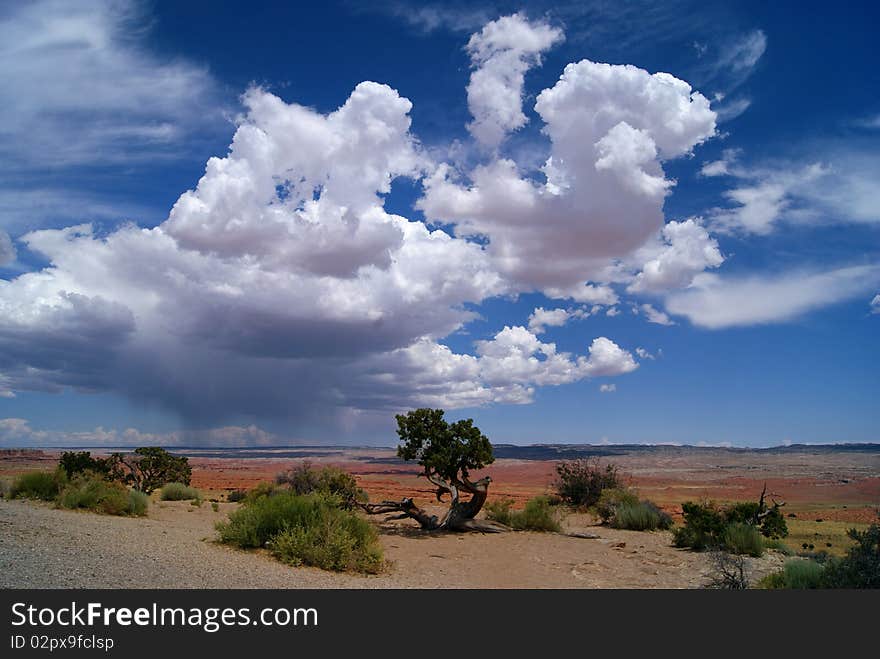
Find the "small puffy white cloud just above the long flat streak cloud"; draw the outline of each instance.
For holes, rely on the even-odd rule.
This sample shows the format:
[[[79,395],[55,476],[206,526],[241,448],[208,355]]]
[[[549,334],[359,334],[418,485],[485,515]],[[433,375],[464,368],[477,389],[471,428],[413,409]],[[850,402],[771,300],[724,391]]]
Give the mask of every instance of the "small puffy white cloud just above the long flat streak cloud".
[[[669,222],[656,245],[643,247],[642,271],[627,288],[630,292],[658,292],[690,286],[694,277],[724,262],[718,242],[698,219]]]

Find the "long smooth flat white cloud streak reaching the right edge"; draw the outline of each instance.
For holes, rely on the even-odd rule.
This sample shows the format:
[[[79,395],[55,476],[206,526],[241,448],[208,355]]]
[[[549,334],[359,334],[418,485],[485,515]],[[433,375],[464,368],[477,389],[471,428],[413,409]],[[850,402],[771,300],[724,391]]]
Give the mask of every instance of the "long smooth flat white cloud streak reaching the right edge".
[[[703,274],[690,289],[667,297],[666,309],[708,329],[779,323],[863,294],[878,281],[880,266],[765,277]]]

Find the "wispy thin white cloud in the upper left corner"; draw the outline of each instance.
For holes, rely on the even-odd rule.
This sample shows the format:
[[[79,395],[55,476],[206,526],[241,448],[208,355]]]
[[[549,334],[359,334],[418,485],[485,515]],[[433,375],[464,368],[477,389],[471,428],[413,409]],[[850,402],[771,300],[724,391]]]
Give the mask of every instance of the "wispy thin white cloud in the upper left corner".
[[[0,15],[4,168],[153,160],[221,119],[202,67],[143,46],[139,3],[39,0]]]

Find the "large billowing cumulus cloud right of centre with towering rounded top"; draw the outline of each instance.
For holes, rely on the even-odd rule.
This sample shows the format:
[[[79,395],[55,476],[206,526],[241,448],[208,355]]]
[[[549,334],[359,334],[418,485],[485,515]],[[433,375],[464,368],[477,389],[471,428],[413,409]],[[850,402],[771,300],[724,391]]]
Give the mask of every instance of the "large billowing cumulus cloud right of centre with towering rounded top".
[[[457,235],[487,237],[495,267],[520,288],[587,301],[585,282],[660,231],[673,184],[661,162],[714,135],[715,113],[667,73],[589,60],[566,66],[535,110],[551,142],[543,182],[506,158],[467,173],[443,164],[418,206]]]

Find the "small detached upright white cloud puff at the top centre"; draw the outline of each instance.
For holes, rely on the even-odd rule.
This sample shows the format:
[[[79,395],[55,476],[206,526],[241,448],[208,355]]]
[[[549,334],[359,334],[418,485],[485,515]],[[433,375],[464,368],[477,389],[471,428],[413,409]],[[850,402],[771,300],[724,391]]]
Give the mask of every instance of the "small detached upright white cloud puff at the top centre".
[[[530,22],[523,14],[503,16],[471,36],[467,51],[474,72],[467,96],[474,120],[468,130],[481,145],[496,148],[509,132],[526,124],[522,111],[525,73],[562,39],[557,28]]]

